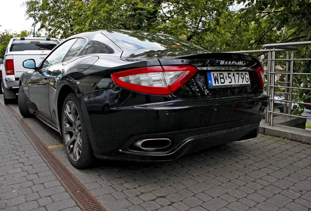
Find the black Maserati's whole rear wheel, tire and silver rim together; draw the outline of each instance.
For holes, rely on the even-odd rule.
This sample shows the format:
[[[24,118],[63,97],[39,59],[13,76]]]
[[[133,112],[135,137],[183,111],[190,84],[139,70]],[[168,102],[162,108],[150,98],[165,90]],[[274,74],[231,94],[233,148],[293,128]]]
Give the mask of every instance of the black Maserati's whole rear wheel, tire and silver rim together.
[[[67,95],[62,109],[62,133],[69,162],[77,169],[89,167],[94,154],[82,116],[78,98],[74,93]]]

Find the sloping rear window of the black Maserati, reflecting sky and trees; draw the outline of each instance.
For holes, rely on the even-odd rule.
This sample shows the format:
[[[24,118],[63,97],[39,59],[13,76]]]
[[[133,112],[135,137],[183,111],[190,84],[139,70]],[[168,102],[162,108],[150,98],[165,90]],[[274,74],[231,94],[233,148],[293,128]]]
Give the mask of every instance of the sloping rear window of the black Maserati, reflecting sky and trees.
[[[128,57],[171,57],[207,52],[199,46],[164,34],[107,30],[105,35]]]

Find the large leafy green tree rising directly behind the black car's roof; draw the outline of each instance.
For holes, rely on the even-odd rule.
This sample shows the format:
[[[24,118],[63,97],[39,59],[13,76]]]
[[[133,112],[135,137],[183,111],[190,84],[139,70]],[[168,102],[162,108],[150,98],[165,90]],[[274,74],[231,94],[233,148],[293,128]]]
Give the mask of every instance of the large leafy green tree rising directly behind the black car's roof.
[[[162,32],[203,45],[233,0],[29,0],[26,14],[48,36],[94,29]]]

